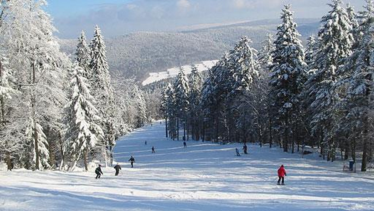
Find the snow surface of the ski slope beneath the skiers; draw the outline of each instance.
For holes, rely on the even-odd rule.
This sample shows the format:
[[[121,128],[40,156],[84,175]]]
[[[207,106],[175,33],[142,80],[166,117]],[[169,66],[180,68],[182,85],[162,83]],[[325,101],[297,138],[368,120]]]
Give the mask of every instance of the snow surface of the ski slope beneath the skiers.
[[[117,177],[113,168],[104,168],[99,180],[93,171],[0,171],[0,210],[374,210],[374,177],[341,172],[340,162],[258,145],[236,157],[240,144],[187,141],[183,148],[164,133],[155,123],[117,142]],[[280,164],[285,186],[276,185]]]

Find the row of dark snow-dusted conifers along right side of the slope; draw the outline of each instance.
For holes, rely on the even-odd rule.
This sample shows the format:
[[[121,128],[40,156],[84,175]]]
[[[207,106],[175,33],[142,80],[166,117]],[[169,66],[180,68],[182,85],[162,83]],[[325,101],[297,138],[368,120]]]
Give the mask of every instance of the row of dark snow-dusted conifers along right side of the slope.
[[[329,7],[306,51],[286,5],[276,39],[269,35],[259,53],[242,37],[204,82],[197,71],[188,82],[181,70],[163,91],[166,135],[179,139],[183,126],[185,139],[276,143],[292,153],[309,145],[331,161],[338,150],[355,161],[361,152],[366,171],[373,158],[373,1],[358,14],[341,0]]]

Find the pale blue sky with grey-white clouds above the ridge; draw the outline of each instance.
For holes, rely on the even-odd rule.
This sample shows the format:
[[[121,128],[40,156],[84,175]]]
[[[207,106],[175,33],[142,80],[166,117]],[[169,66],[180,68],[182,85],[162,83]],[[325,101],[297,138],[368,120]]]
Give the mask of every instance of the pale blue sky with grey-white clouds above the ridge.
[[[362,10],[364,0],[349,0]],[[178,31],[206,25],[279,18],[292,4],[295,18],[321,18],[330,0],[47,0],[60,38],[89,34],[98,24],[105,36],[134,31]],[[343,0],[344,4],[347,0]]]

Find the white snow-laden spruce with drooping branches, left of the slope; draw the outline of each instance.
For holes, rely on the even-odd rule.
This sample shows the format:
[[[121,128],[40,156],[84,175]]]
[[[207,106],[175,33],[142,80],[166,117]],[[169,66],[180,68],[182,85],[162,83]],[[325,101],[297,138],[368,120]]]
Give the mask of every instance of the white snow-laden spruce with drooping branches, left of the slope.
[[[84,76],[85,71],[76,62],[70,74],[69,102],[65,107],[64,118],[67,126],[65,142],[72,162],[70,170],[73,171],[83,157],[88,171],[88,153],[104,138],[104,133],[98,124],[100,117]]]

